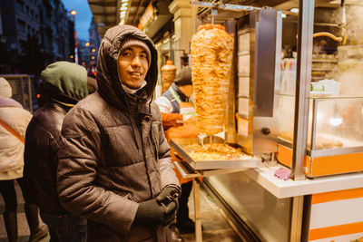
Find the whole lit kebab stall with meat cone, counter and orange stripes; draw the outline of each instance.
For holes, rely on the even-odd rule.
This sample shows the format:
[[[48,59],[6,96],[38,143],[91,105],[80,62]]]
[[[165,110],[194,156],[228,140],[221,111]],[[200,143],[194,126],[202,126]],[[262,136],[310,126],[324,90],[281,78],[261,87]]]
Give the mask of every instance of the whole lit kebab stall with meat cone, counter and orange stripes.
[[[171,145],[181,160],[177,168],[184,176],[205,178],[203,188],[247,241],[363,237],[363,74],[351,72],[361,69],[363,46],[349,35],[345,16],[363,6],[348,2],[319,8],[300,0],[299,15],[191,2],[210,7],[212,17],[191,39],[200,139]],[[331,13],[340,14],[321,23]],[[224,28],[214,23],[219,16]],[[295,38],[285,29],[287,21],[296,22],[296,59],[281,56],[286,39]],[[320,49],[313,59],[314,33],[334,36],[325,45],[333,51]],[[218,44],[212,42],[218,37]],[[317,73],[321,63],[336,71]],[[331,75],[334,80],[327,79]],[[290,179],[279,179],[280,170],[289,170]],[[199,186],[195,179],[196,241],[202,239]]]

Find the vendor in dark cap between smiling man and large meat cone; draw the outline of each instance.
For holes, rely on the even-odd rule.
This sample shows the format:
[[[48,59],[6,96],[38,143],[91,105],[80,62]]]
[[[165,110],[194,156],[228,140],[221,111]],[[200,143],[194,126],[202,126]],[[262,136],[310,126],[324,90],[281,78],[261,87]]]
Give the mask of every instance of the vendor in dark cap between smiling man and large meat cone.
[[[191,68],[183,67],[176,75],[172,86],[167,92],[156,99],[162,112],[162,126],[168,140],[197,139],[198,132],[195,126],[195,109],[190,102],[193,91],[191,83]],[[178,160],[172,150],[172,160]],[[194,233],[195,223],[189,218],[188,199],[191,194],[191,179],[182,179],[176,170],[179,181],[182,184],[182,196],[179,198],[179,209],[176,216],[176,226],[179,231],[184,233]]]

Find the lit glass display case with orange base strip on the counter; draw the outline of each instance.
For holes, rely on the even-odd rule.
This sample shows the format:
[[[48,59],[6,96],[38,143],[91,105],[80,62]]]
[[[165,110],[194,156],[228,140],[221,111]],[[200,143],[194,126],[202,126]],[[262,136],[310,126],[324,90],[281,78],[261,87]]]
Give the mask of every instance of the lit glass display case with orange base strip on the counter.
[[[291,166],[293,95],[280,95],[278,160]],[[311,95],[305,173],[309,178],[363,170],[363,97]]]

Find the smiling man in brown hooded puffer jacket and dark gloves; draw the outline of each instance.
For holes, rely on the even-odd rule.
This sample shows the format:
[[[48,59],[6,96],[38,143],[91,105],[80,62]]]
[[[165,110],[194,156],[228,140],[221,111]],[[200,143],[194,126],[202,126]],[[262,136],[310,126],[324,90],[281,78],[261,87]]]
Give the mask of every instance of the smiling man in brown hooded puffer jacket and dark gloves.
[[[89,241],[169,240],[181,188],[152,102],[157,73],[149,37],[114,26],[98,53],[98,91],[64,118],[58,195],[88,218]]]

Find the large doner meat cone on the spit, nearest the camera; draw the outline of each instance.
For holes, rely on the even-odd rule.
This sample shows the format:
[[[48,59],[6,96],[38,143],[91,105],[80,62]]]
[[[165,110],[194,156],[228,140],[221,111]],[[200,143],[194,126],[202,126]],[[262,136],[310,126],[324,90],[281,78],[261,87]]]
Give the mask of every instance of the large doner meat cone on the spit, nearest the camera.
[[[223,131],[231,79],[233,38],[220,24],[204,24],[191,37],[191,80],[199,133]]]

